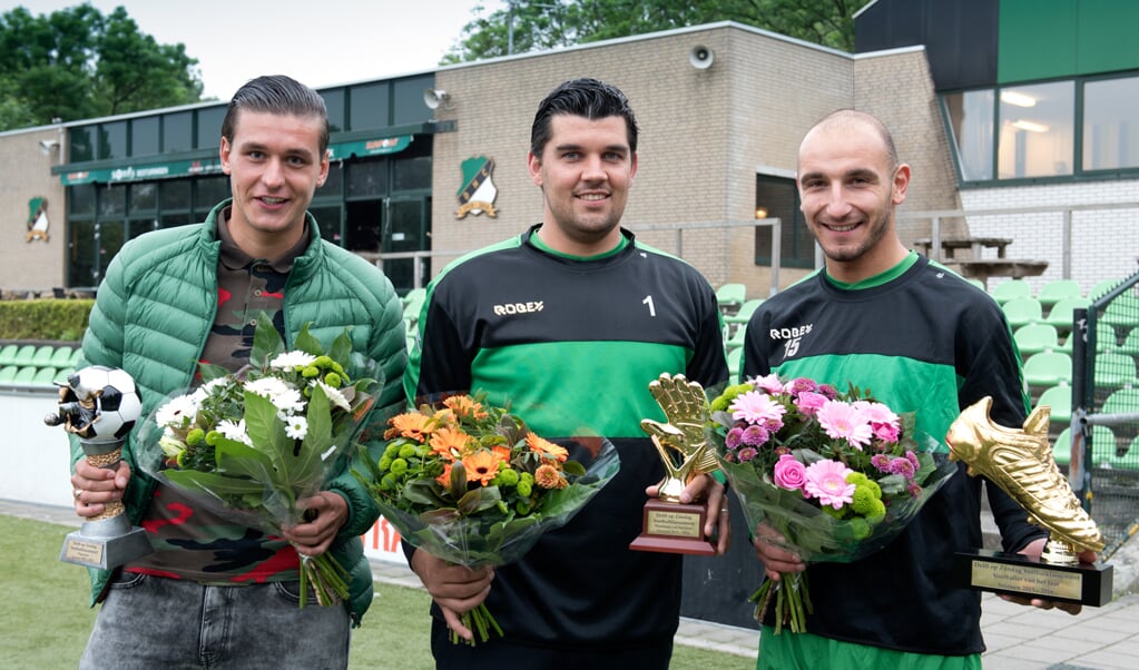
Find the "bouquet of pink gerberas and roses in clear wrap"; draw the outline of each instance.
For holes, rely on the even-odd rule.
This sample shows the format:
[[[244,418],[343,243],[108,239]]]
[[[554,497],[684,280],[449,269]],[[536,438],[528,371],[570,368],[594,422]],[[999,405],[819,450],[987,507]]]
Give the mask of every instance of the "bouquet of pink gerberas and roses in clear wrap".
[[[727,387],[710,417],[748,528],[775,548],[765,566],[780,579],[751,599],[761,621],[775,600],[776,634],[806,630],[802,562],[849,563],[885,547],[957,472],[937,441],[915,433],[912,412],[853,386],[768,375]]]

